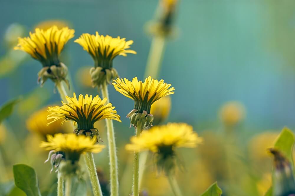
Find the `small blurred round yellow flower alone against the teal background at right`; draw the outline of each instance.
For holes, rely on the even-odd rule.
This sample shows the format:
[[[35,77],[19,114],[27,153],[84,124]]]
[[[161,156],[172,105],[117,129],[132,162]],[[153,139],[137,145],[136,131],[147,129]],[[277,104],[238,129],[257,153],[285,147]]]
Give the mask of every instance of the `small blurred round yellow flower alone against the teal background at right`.
[[[227,127],[233,127],[245,117],[245,107],[240,102],[227,102],[220,109],[220,119]]]

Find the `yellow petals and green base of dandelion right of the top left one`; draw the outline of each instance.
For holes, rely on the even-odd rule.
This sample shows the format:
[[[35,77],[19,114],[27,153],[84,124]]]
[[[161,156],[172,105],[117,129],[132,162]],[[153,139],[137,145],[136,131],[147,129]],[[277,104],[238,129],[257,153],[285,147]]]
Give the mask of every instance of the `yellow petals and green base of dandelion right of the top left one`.
[[[127,53],[136,54],[134,50],[129,50],[132,40],[125,41],[126,38],[120,36],[113,38],[109,35],[95,35],[88,33],[82,34],[74,42],[80,44],[95,61],[95,67],[109,68],[112,60],[118,56],[127,56]]]

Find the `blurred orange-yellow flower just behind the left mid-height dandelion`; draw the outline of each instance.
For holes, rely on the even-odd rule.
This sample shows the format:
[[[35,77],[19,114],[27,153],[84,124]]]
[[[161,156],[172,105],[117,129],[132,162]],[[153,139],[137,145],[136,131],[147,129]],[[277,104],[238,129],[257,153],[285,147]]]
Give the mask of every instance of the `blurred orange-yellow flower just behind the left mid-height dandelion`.
[[[47,107],[33,113],[27,119],[27,129],[33,133],[40,134],[43,137],[46,137],[47,134],[54,135],[56,133],[65,132],[63,127],[60,125],[62,120],[55,121],[49,126],[46,126],[47,115],[49,115],[49,112],[47,112]]]

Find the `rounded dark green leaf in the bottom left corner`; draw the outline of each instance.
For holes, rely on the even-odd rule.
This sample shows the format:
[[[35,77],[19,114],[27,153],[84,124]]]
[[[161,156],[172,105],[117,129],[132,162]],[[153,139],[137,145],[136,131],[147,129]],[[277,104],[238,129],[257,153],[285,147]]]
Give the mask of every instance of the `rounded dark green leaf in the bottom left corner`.
[[[14,183],[27,196],[41,196],[35,170],[24,164],[13,165]]]

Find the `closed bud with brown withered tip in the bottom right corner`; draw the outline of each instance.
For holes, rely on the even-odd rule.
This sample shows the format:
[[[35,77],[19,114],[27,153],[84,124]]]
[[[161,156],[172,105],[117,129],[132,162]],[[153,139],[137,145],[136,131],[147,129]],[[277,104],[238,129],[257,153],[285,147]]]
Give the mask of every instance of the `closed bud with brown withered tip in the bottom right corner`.
[[[275,196],[294,196],[295,179],[293,166],[284,155],[276,149],[270,149],[274,156],[273,191]]]

